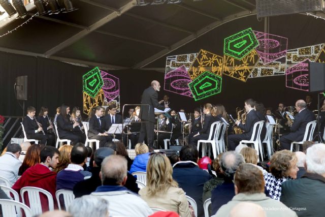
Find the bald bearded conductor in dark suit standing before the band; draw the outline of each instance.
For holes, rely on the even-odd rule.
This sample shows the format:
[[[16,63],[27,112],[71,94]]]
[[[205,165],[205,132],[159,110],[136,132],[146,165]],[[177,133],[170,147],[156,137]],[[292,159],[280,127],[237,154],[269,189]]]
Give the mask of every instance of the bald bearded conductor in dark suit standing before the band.
[[[141,106],[139,118],[141,121],[149,121],[141,123],[141,130],[138,142],[143,142],[147,135],[147,143],[149,146],[153,147],[154,140],[154,108],[164,110],[168,108],[168,105],[160,105],[158,103],[158,93],[160,90],[160,84],[158,81],[151,81],[151,86],[143,91],[141,104],[148,104],[149,106]]]

